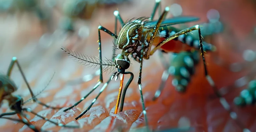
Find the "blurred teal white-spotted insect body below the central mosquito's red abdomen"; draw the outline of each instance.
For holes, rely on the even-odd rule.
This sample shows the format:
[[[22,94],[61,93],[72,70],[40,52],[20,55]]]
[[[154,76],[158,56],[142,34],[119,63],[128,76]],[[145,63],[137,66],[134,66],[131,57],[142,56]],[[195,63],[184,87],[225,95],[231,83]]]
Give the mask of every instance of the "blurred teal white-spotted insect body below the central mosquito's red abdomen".
[[[168,66],[166,67],[163,75],[162,82],[159,89],[156,91],[153,100],[156,100],[163,90],[166,80],[169,77],[169,74],[174,76],[172,84],[178,92],[184,92],[186,87],[190,83],[191,76],[195,73],[195,66],[199,63],[200,54],[198,51],[182,51],[173,57],[170,62],[170,66],[163,57],[160,58],[161,62]]]

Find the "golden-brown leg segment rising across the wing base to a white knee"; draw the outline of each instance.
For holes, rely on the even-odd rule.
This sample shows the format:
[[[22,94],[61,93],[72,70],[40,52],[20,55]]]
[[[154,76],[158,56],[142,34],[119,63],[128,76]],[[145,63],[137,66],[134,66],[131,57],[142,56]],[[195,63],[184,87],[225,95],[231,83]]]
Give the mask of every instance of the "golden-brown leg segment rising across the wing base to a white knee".
[[[157,34],[157,32],[158,32],[158,29],[159,29],[159,27],[160,27],[160,25],[161,25],[163,19],[165,18],[165,16],[166,16],[167,13],[169,12],[169,10],[170,10],[169,7],[165,7],[164,12],[162,13],[162,15],[160,16],[160,18],[158,19],[157,24],[156,24],[156,26],[154,27],[153,34],[152,34],[152,36],[150,37],[149,49],[148,49],[148,51],[151,51],[151,47],[152,47],[153,41],[154,41],[154,39],[155,39],[155,36],[156,36],[156,34]],[[147,52],[147,54],[146,54],[146,59],[149,59],[149,56],[150,56],[150,52]]]

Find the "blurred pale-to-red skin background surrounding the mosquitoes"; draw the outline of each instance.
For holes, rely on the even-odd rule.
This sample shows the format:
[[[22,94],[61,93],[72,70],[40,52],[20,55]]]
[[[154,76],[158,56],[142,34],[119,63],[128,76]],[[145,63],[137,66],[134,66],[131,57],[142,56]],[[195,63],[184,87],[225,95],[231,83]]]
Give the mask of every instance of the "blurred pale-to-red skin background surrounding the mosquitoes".
[[[98,56],[97,28],[102,25],[114,31],[115,10],[118,10],[126,21],[134,17],[150,17],[154,4],[155,0],[0,0],[0,72],[6,74],[12,57],[17,57],[34,93],[40,92],[55,73],[49,86],[38,96],[39,100],[51,106],[72,106],[95,86],[99,77],[91,79],[90,74],[94,74],[96,69],[73,61],[59,47],[64,46],[79,53]],[[175,27],[184,29],[196,24],[203,26],[203,41],[217,47],[216,52],[205,53],[209,74],[237,113],[241,123],[250,131],[256,131],[255,105],[238,107],[233,103],[234,98],[255,79],[255,0],[162,0],[161,8],[164,9],[165,6],[170,7],[166,18],[200,18],[199,21],[177,24]],[[157,17],[158,15],[155,19]],[[119,27],[118,23],[118,32]],[[196,34],[197,31],[193,33]],[[102,56],[111,59],[113,38],[101,32],[101,41]],[[164,57],[171,63],[172,53],[164,54]],[[59,119],[64,124],[72,121],[79,123],[83,126],[81,130],[55,127],[28,113],[29,119],[35,126],[54,131],[99,131],[106,128],[114,131],[120,126],[122,130],[129,131],[143,127],[137,86],[139,64],[134,60],[132,63],[129,71],[132,71],[135,77],[126,93],[124,112],[113,114],[120,83],[112,81],[91,110],[78,122],[73,121],[74,118],[91,104],[100,88],[74,108],[73,113],[61,113],[35,103],[24,106],[47,118]],[[169,77],[163,93],[153,102],[152,98],[161,83],[163,71],[164,67],[157,53],[143,62],[142,91],[152,129],[185,127],[190,129],[182,130],[195,132],[242,131],[239,124],[231,119],[219,103],[207,83],[202,61],[196,67],[195,75],[185,93],[178,93],[172,85],[172,77]],[[103,75],[105,82],[111,73]],[[17,66],[11,74],[11,79],[18,87],[14,94],[22,95],[27,100],[30,94]],[[126,75],[125,84],[128,79]],[[68,84],[70,80],[75,80],[75,85]],[[83,80],[90,81],[82,83]],[[8,107],[8,103],[3,101],[0,113],[10,112]],[[115,122],[108,127],[112,117],[116,117]],[[31,131],[23,124],[0,120],[1,131]]]

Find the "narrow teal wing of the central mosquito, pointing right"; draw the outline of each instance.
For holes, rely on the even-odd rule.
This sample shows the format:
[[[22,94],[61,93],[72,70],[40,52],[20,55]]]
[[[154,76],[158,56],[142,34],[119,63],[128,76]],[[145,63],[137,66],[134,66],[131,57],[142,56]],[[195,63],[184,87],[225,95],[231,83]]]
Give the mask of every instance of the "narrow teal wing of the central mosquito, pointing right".
[[[174,18],[164,20],[161,23],[160,27],[181,24],[181,23],[187,23],[187,22],[193,22],[193,21],[198,21],[198,20],[199,20],[198,17],[191,17],[191,16],[190,17],[189,16],[174,17]],[[147,28],[154,27],[156,25],[157,21],[158,20],[148,22],[144,25],[144,27],[147,27]]]

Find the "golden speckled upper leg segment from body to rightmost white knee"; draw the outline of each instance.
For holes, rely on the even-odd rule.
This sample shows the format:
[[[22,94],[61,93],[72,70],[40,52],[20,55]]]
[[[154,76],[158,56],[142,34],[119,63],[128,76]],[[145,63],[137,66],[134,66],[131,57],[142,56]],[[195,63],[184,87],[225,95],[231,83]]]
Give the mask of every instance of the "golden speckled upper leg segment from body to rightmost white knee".
[[[154,49],[150,50],[150,56],[152,56],[156,52],[157,49],[159,49],[161,46],[163,46],[165,43],[169,42],[170,40],[173,40],[173,39],[179,37],[180,35],[184,35],[188,32],[198,30],[198,29],[199,29],[199,25],[195,25],[195,26],[186,28],[184,30],[181,30],[174,35],[169,36],[168,38],[161,41]]]

